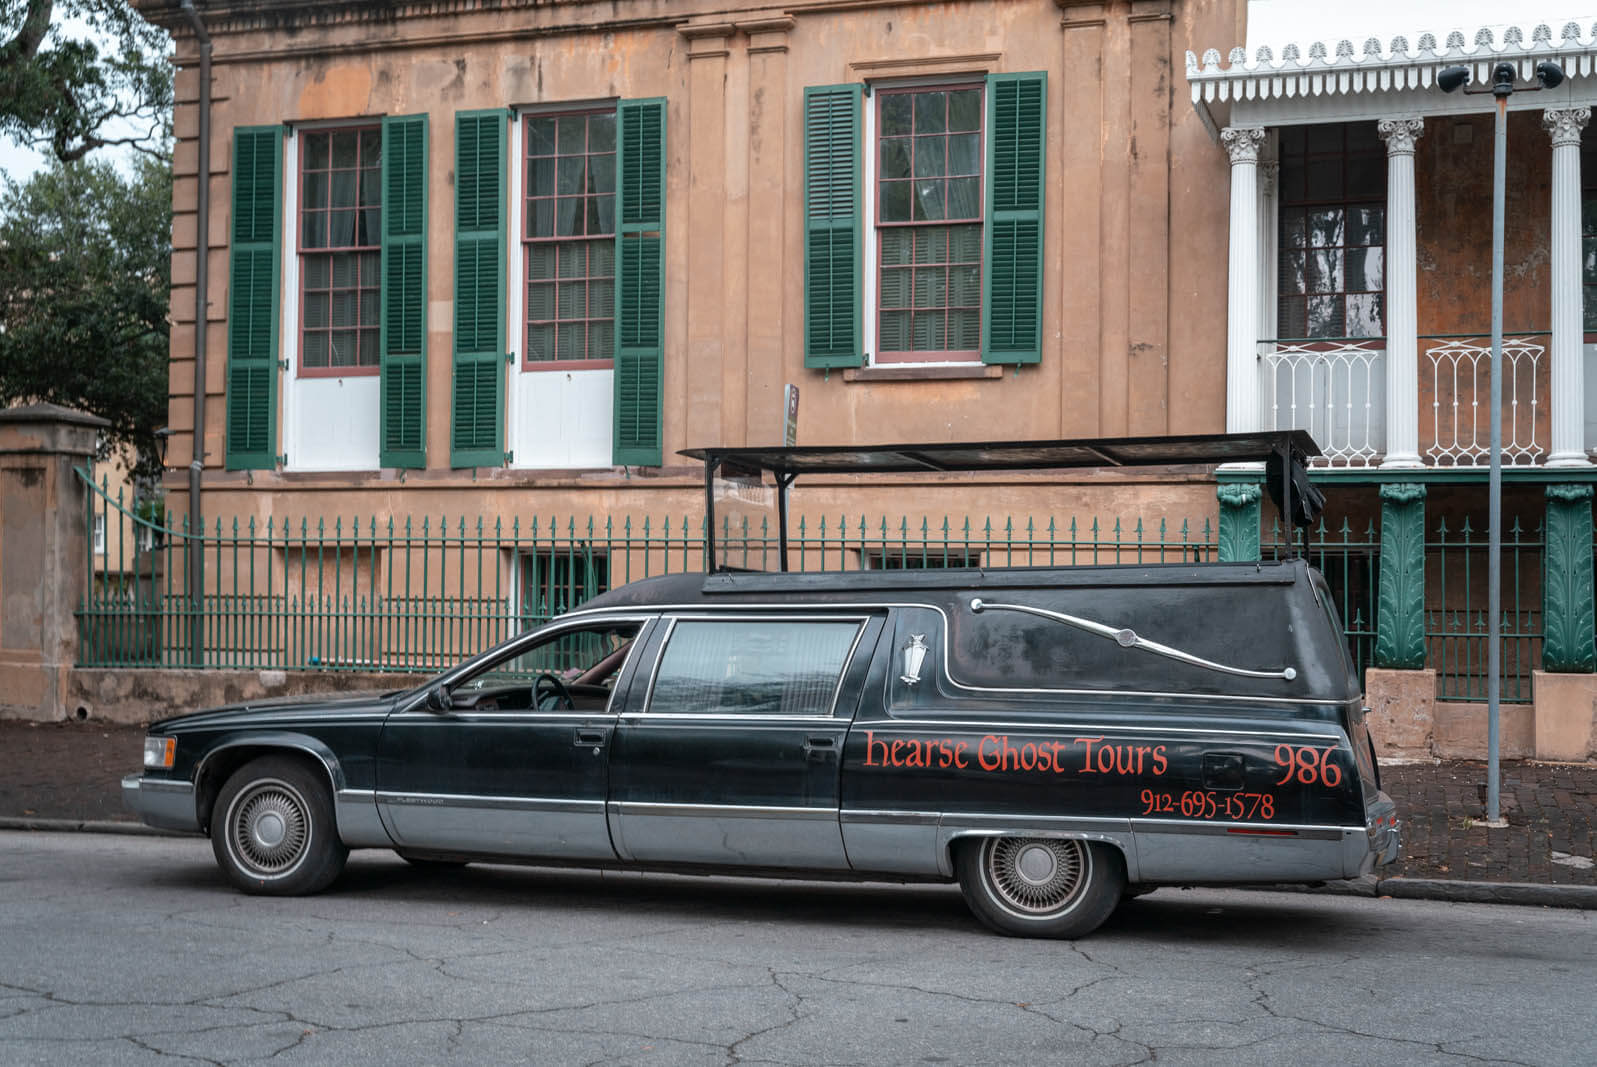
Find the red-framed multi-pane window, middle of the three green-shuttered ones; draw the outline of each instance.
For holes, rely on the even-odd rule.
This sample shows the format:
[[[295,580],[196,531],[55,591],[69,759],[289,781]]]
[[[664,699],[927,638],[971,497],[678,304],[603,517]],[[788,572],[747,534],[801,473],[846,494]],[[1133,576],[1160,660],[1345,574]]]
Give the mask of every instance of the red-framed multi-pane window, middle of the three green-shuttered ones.
[[[529,115],[525,366],[615,356],[615,112]]]

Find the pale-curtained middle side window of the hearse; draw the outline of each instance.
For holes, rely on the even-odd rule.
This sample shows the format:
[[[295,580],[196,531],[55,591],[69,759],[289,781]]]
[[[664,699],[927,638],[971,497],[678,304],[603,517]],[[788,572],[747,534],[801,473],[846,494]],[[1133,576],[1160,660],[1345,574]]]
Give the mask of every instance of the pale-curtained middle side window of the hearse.
[[[648,701],[663,716],[830,716],[854,620],[679,620]]]

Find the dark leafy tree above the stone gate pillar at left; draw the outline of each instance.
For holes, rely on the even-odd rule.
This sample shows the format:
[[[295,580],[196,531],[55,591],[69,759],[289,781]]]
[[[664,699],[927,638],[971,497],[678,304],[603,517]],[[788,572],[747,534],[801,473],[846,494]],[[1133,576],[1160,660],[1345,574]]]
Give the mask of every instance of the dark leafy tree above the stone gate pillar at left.
[[[136,157],[56,163],[0,195],[0,406],[50,401],[110,422],[102,452],[160,476],[172,176]]]

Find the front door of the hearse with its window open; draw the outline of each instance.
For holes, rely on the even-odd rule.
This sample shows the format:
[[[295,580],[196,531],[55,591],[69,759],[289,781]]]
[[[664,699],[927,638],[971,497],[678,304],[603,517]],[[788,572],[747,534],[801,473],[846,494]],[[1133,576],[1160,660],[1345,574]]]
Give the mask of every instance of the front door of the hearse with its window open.
[[[377,807],[401,848],[613,859],[610,741],[647,620],[551,626],[383,725]]]

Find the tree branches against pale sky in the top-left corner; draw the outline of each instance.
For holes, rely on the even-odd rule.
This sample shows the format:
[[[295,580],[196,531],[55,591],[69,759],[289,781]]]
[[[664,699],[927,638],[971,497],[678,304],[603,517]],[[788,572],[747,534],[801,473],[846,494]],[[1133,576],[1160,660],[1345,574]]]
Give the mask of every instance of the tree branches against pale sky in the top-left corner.
[[[62,163],[104,145],[163,155],[171,105],[166,34],[128,0],[0,0],[0,134]]]

